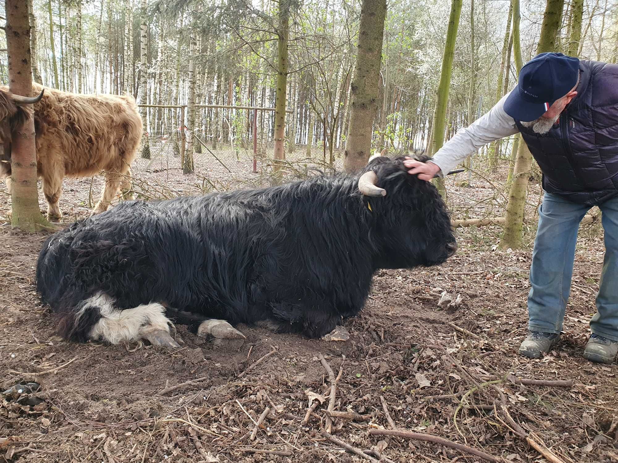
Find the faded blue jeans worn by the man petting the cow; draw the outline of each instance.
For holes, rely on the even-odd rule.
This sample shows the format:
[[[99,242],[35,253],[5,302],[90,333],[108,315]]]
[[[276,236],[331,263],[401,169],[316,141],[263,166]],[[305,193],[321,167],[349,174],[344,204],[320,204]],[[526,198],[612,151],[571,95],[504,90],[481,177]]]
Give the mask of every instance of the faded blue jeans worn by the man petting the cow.
[[[562,331],[577,232],[589,209],[556,194],[544,194],[530,267],[528,328],[532,331]],[[599,209],[603,213],[605,257],[590,328],[596,335],[618,341],[618,198],[604,202]]]

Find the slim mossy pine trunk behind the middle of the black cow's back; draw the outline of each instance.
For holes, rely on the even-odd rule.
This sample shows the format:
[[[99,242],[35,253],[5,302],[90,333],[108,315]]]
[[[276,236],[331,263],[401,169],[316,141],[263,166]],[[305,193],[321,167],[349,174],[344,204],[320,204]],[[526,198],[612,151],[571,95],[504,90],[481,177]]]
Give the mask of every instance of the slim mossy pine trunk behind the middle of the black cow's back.
[[[279,181],[277,161],[286,159],[286,92],[287,92],[287,37],[290,30],[289,2],[279,2],[279,30],[277,31],[277,93],[274,128],[274,183]]]

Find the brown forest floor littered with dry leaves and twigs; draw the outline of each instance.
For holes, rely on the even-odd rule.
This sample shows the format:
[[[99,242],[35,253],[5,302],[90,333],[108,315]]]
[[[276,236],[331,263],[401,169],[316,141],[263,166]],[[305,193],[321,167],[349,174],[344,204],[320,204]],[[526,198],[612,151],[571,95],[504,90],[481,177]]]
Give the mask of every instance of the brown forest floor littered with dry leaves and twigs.
[[[226,168],[206,153],[191,175],[166,169],[178,164],[171,156],[138,159],[136,190],[167,197],[259,180],[246,155],[215,154]],[[501,215],[504,198],[489,181],[473,177],[470,188],[459,186],[466,179],[447,181],[454,217]],[[489,180],[504,182],[501,175]],[[85,217],[102,185],[100,178],[65,179],[63,222]],[[531,218],[538,193],[531,183]],[[0,215],[9,200],[0,186]],[[184,346],[176,351],[62,341],[33,287],[45,236],[4,224],[0,393],[38,386],[0,395],[0,461],[352,462],[377,461],[379,453],[396,462],[616,462],[618,367],[582,357],[603,232],[582,226],[562,340],[529,360],[517,349],[527,333],[535,222],[520,251],[497,249],[499,227],[459,228],[459,249],[446,264],[379,272],[365,309],[345,323],[348,341],[240,325],[247,340],[221,348],[179,326]],[[459,294],[460,303],[439,307],[442,291]],[[318,405],[308,414],[311,402]],[[348,413],[330,420],[327,409]],[[486,455],[423,436],[371,434],[391,428]],[[335,439],[373,456],[346,453]]]

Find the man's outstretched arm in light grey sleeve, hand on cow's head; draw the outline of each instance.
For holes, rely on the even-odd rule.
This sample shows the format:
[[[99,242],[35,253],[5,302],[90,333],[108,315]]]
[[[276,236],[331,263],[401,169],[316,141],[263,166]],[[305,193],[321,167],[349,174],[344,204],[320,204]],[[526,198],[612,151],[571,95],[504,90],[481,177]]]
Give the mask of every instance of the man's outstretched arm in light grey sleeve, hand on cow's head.
[[[519,129],[515,120],[504,112],[504,100],[507,96],[508,93],[489,112],[468,127],[460,128],[451,140],[436,151],[433,159],[427,164],[412,160],[404,161],[405,167],[412,167],[408,172],[419,174],[418,178],[422,180],[431,180],[436,173],[444,177],[449,170],[481,146],[517,133]],[[431,163],[434,165],[430,165]]]

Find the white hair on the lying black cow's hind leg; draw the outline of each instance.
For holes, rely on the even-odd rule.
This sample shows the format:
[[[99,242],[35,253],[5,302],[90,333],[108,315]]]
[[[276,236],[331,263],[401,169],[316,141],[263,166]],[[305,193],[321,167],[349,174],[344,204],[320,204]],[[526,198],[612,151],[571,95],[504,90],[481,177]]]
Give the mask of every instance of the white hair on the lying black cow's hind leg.
[[[168,331],[169,319],[165,316],[165,307],[156,302],[142,304],[119,311],[114,307],[114,300],[106,294],[96,294],[87,299],[80,309],[80,317],[85,310],[98,308],[101,319],[90,330],[93,340],[103,339],[111,344],[149,339],[155,332]]]

